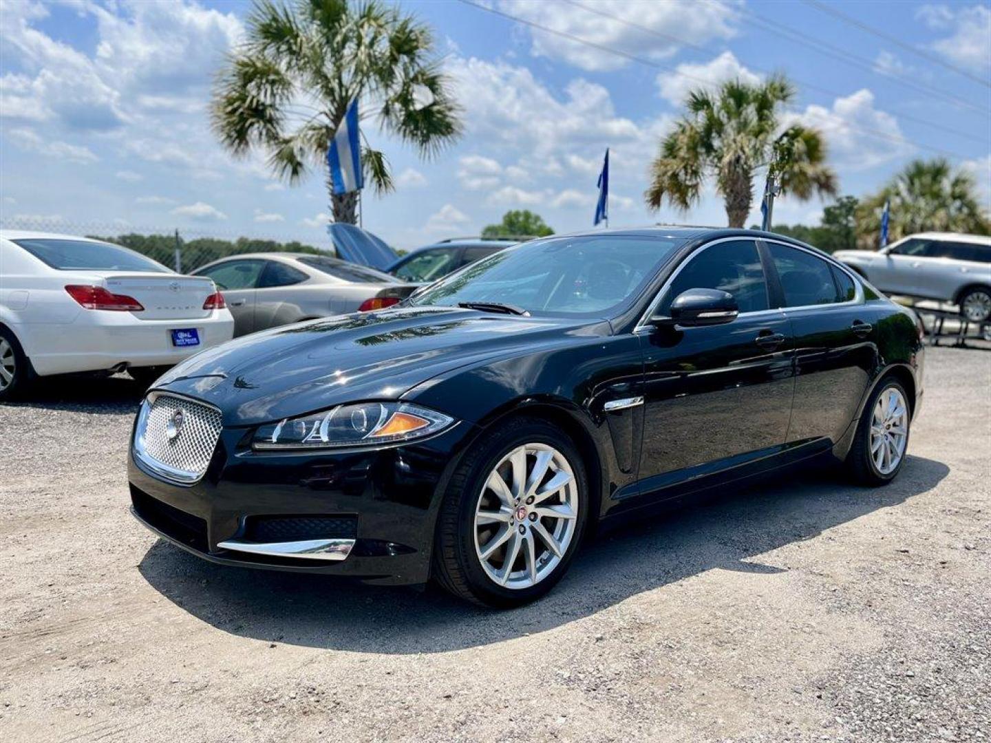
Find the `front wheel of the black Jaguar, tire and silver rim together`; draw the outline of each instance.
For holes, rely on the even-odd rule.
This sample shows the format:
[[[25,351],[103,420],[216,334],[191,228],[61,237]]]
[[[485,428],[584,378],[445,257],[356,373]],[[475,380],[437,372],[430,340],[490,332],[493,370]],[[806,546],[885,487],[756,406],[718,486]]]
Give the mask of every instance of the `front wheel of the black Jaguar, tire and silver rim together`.
[[[451,478],[438,515],[435,578],[487,606],[539,598],[574,558],[588,492],[578,450],[559,429],[525,418],[499,426]]]

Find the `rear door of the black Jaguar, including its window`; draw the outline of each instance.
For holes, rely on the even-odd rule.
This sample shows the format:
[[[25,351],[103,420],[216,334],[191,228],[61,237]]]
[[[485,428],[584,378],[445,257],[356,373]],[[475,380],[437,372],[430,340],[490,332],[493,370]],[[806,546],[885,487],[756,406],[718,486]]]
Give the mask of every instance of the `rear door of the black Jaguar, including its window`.
[[[764,241],[772,282],[795,339],[795,404],[788,441],[837,442],[877,369],[878,310],[850,275],[812,251]]]

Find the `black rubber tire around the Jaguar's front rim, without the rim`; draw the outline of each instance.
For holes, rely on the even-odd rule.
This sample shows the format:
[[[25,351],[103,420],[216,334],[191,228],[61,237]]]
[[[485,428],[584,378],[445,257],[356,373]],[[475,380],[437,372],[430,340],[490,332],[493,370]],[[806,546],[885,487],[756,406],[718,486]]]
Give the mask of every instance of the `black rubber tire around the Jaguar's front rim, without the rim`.
[[[475,510],[486,479],[496,465],[523,444],[545,444],[565,457],[577,484],[575,531],[553,572],[536,584],[510,588],[498,585],[482,567],[476,552]],[[456,596],[494,608],[512,608],[546,594],[567,572],[585,534],[589,518],[589,482],[581,455],[559,428],[534,418],[514,418],[476,442],[448,483],[437,517],[433,578]]]

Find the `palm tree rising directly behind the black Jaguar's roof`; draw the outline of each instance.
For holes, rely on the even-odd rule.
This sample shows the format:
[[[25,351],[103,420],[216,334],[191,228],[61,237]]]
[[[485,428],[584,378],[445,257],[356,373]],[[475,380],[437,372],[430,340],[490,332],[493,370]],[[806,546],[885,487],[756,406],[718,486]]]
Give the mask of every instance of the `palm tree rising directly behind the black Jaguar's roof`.
[[[742,227],[753,203],[754,173],[764,166],[774,169],[782,193],[800,199],[834,194],[836,176],[826,165],[823,135],[801,124],[782,129],[779,107],[794,97],[794,87],[780,75],[752,85],[729,80],[715,92],[693,90],[687,113],[661,141],[651,164],[647,206],[659,209],[667,199],[687,211],[712,175],[729,226]]]

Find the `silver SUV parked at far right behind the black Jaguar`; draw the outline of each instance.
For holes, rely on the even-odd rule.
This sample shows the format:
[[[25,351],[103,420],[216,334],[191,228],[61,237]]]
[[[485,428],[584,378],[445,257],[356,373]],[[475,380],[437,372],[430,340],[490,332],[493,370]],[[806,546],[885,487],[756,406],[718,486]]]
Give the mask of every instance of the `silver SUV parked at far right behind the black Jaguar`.
[[[971,322],[991,319],[991,238],[923,232],[880,251],[836,251],[832,257],[887,294],[952,302]]]

